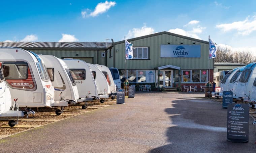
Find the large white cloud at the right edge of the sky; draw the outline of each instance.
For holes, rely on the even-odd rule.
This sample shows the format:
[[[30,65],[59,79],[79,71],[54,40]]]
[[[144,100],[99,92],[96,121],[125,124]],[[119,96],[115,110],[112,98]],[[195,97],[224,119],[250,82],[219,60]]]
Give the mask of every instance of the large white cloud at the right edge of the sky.
[[[249,35],[251,32],[256,31],[256,18],[254,16],[252,19],[249,18],[250,16],[248,16],[244,21],[218,24],[216,27],[221,29],[223,32],[236,30],[239,35]]]

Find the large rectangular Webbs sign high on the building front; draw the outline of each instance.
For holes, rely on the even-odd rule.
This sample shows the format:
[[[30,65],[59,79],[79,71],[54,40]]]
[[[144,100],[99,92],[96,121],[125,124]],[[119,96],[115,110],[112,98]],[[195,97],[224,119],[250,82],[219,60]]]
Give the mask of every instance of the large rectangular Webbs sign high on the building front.
[[[200,58],[201,45],[160,45],[160,57]]]

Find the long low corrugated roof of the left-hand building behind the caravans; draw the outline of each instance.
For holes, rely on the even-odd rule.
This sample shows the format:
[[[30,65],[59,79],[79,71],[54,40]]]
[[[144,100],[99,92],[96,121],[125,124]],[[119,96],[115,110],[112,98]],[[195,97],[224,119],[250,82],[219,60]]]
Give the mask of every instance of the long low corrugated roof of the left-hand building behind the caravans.
[[[0,47],[26,49],[106,49],[111,43],[104,42],[0,42]]]

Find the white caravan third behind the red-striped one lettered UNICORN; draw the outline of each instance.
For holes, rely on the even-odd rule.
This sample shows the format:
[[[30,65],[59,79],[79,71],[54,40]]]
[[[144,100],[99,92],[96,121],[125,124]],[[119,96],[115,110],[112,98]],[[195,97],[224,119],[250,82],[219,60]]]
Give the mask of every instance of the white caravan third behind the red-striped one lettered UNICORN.
[[[108,94],[110,93],[110,89],[107,83],[107,79],[105,77],[105,75],[101,72],[101,70],[90,63],[87,63],[91,70],[92,70],[92,74],[93,74],[93,78],[97,84],[98,87],[98,94],[99,94],[99,98],[108,98]]]

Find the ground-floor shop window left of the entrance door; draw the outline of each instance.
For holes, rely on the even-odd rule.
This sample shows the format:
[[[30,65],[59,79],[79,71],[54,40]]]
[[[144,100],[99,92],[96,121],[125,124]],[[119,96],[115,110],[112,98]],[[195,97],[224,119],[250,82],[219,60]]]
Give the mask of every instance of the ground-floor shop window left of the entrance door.
[[[125,70],[121,70],[121,82],[125,81]],[[154,83],[155,70],[127,70],[127,80],[130,83]]]

